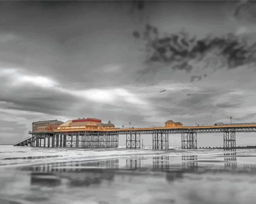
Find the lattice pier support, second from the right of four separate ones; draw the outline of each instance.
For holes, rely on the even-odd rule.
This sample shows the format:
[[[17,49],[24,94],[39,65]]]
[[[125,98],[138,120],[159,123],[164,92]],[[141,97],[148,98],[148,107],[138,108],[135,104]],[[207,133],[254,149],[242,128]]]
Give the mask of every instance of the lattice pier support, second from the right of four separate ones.
[[[182,149],[196,149],[197,148],[197,133],[196,132],[182,132],[181,133],[181,148]]]

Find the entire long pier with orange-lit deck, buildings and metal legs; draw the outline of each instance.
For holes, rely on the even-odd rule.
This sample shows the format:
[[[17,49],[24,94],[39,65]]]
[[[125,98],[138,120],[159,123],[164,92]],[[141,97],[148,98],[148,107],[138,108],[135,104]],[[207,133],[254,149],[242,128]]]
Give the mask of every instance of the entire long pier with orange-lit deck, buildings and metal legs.
[[[237,132],[256,132],[256,123],[214,125],[183,125],[168,120],[163,127],[116,128],[108,121],[95,118],[78,118],[62,122],[46,120],[32,123],[30,136],[15,146],[69,147],[69,148],[117,148],[119,136],[125,136],[126,148],[141,148],[141,135],[152,136],[153,149],[168,149],[169,134],[181,134],[183,149],[197,148],[198,133],[223,132],[223,148],[235,148]]]

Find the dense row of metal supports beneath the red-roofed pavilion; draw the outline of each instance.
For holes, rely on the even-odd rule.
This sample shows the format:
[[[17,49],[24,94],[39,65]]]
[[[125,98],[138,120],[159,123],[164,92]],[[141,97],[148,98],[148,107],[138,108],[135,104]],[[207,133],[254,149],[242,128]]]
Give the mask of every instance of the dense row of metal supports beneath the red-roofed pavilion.
[[[54,147],[75,148],[117,148],[118,133],[116,132],[82,132],[82,133],[55,133]]]

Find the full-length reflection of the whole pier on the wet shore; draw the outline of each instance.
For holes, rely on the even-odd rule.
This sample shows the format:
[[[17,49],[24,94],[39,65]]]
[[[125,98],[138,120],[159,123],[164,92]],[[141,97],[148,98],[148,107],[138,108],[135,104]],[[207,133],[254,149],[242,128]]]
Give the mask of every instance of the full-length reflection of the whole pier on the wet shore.
[[[69,186],[99,185],[103,180],[112,182],[115,175],[162,175],[166,180],[174,181],[184,177],[184,173],[202,174],[207,172],[256,173],[255,165],[237,167],[236,152],[223,154],[223,165],[214,169],[201,162],[198,155],[182,155],[181,163],[173,163],[170,156],[135,158],[113,158],[94,161],[55,162],[24,167],[31,171],[32,185],[61,185],[62,179],[68,180]],[[205,161],[205,160],[203,160]],[[162,173],[162,174],[159,174]]]

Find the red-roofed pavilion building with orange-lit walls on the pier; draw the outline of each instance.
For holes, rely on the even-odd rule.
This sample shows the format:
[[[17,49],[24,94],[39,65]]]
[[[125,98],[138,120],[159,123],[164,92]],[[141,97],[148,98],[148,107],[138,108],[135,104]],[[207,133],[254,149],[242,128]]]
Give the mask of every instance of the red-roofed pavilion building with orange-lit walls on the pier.
[[[100,119],[95,118],[78,118],[75,120],[68,120],[67,122],[61,124],[56,128],[58,130],[73,130],[78,128],[83,129],[96,129],[96,130],[104,130],[104,129],[114,129],[114,124],[109,120],[108,123],[102,123]]]

